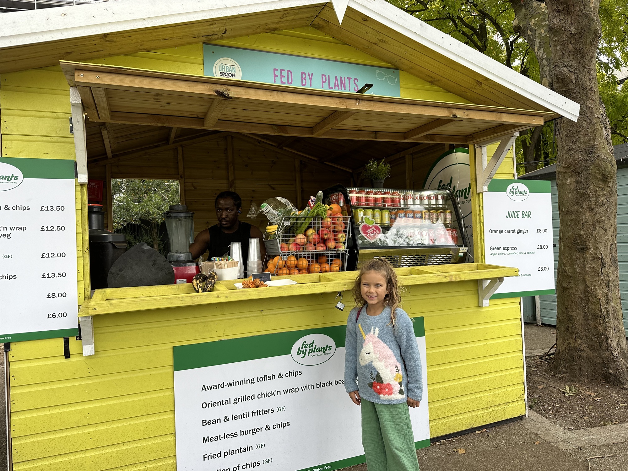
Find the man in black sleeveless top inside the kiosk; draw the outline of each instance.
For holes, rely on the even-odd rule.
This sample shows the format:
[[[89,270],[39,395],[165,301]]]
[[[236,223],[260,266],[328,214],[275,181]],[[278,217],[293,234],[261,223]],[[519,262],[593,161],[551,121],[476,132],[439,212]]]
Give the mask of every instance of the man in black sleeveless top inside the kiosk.
[[[216,217],[218,224],[202,230],[190,244],[192,257],[197,259],[205,251],[209,251],[208,259],[222,257],[229,254],[231,242],[241,242],[242,259],[246,264],[249,258],[249,238],[259,237],[259,249],[262,260],[266,256],[266,249],[262,241],[262,232],[254,225],[241,222],[239,215],[242,212],[242,198],[235,192],[222,192],[216,197]]]

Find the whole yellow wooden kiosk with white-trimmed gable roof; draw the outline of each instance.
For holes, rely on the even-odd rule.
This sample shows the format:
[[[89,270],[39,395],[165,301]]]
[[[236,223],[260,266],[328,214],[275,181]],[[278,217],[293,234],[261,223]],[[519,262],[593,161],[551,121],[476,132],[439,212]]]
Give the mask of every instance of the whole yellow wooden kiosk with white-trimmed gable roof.
[[[396,69],[399,95],[212,77],[203,43]],[[111,229],[111,178],[179,180],[198,232],[227,188],[245,208],[278,195],[301,207],[357,183],[370,158],[393,165],[387,185],[420,188],[448,146],[468,146],[475,262],[398,269],[403,307],[425,317],[432,437],[523,416],[520,299],[487,299],[487,283],[517,269],[484,264],[482,192],[514,178],[515,133],[561,116],[577,119],[578,105],[384,0],[135,0],[0,16],[1,156],[76,162],[82,332],[69,358],[61,338],[8,347],[13,469],[174,470],[173,345],[346,322],[334,298],[350,299],[352,272],[272,291],[220,282],[90,296],[88,175],[106,181]]]

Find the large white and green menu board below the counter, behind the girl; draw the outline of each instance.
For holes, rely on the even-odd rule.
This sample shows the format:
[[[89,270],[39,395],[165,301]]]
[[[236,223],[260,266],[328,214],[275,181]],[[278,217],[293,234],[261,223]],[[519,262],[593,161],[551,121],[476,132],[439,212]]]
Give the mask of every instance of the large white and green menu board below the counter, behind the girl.
[[[174,347],[178,471],[337,470],[364,463],[345,392],[344,325]],[[427,384],[423,318],[414,332]],[[430,445],[427,387],[410,409]]]

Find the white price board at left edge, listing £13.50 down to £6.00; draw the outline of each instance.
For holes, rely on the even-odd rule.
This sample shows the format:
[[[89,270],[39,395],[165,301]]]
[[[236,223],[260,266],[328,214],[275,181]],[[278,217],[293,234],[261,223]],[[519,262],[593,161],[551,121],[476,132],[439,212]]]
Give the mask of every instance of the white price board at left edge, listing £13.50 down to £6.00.
[[[0,342],[78,335],[74,161],[0,158]]]

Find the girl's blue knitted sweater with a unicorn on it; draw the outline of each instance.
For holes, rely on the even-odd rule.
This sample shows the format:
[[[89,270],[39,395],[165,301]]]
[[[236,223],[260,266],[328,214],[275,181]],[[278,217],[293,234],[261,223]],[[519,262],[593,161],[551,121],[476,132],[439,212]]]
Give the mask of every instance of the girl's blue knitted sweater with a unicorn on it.
[[[359,308],[352,309],[347,319],[347,393],[357,390],[362,399],[380,404],[404,403],[408,396],[420,401],[423,397],[421,356],[413,323],[406,311],[397,308],[395,327],[390,323],[390,306],[377,316],[369,316],[364,307],[356,320],[358,311]]]

